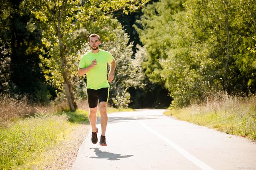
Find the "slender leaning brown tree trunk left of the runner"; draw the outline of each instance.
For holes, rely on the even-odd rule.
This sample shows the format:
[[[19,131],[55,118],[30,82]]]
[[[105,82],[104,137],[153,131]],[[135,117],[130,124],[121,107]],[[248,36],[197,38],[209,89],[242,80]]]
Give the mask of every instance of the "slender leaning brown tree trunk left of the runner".
[[[72,86],[69,81],[68,74],[66,72],[66,58],[65,58],[65,53],[64,53],[65,49],[64,49],[63,42],[62,42],[63,34],[60,31],[60,20],[62,18],[62,12],[64,12],[64,10],[65,10],[65,7],[64,7],[65,2],[62,4],[62,10],[61,10],[60,14],[58,15],[57,33],[58,33],[59,49],[60,49],[60,63],[61,63],[61,67],[62,67],[61,71],[62,71],[62,76],[63,76],[63,80],[64,80],[66,98],[68,99],[68,105],[69,105],[70,111],[76,111],[77,105],[75,102],[74,94],[72,92],[72,88],[71,88]]]

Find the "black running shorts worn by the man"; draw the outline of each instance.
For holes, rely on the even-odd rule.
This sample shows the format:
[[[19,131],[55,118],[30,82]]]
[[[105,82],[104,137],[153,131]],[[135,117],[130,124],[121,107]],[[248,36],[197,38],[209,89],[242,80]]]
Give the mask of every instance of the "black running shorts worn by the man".
[[[94,108],[98,106],[99,102],[107,102],[108,103],[108,88],[100,88],[98,90],[94,90],[91,88],[87,89],[88,94],[88,104],[90,108]]]

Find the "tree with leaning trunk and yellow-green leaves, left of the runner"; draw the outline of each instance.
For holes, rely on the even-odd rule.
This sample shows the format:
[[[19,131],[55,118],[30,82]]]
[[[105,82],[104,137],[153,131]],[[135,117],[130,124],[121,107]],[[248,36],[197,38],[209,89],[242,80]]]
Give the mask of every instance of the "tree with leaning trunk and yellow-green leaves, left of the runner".
[[[46,80],[60,90],[65,90],[71,111],[77,107],[71,84],[71,79],[76,74],[69,66],[72,65],[76,52],[85,43],[84,37],[89,35],[84,26],[90,28],[92,21],[98,24],[104,22],[104,19],[108,18],[107,14],[115,10],[123,9],[125,13],[135,11],[146,2],[147,0],[22,2],[24,11],[31,12],[42,24],[42,42],[45,49],[42,49],[44,55],[41,59],[45,60],[45,66],[51,68],[44,70]]]

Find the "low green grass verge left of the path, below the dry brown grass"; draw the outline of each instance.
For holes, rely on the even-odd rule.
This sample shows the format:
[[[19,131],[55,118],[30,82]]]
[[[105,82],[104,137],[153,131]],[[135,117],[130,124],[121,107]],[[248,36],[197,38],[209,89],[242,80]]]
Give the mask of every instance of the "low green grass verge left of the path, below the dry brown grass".
[[[108,107],[108,113],[133,111]],[[89,124],[88,111],[63,111],[49,115],[16,118],[10,126],[0,128],[0,170],[40,169],[44,153],[67,140],[78,124]]]

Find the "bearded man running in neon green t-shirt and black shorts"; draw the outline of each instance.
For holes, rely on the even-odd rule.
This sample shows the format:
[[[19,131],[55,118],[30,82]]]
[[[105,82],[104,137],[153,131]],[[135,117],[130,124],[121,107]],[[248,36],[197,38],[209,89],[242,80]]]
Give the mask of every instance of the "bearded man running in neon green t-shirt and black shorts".
[[[108,51],[99,49],[100,44],[99,35],[91,34],[89,36],[89,45],[91,50],[81,57],[78,75],[82,76],[86,74],[87,76],[87,94],[90,108],[89,120],[92,126],[92,143],[96,144],[98,142],[98,128],[96,128],[96,120],[99,100],[101,125],[100,145],[107,146],[105,133],[108,123],[107,103],[110,88],[108,82],[112,82],[114,79],[116,61]],[[107,78],[108,63],[110,63],[110,71]]]

